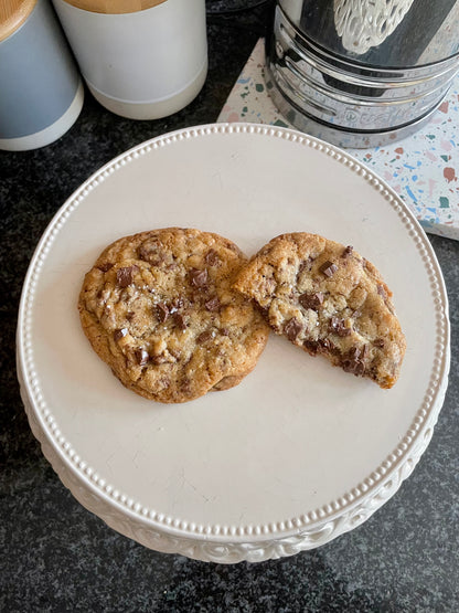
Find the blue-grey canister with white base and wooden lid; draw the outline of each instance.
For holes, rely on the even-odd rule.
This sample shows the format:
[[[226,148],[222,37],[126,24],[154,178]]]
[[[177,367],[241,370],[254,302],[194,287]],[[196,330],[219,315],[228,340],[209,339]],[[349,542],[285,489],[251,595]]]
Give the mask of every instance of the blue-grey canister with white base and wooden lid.
[[[0,149],[50,145],[76,121],[84,87],[49,0],[0,0]]]

